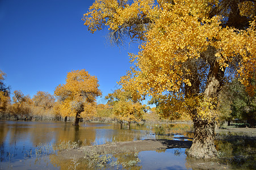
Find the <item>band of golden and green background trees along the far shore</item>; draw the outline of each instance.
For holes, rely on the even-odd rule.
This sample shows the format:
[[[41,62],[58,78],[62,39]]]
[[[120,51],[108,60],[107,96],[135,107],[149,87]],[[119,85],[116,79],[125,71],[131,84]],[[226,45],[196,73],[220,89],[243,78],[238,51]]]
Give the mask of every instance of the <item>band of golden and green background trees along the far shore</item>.
[[[85,70],[72,71],[68,74],[73,76],[83,76],[85,79],[90,76]],[[96,77],[93,76],[93,84],[75,79],[73,82],[81,82],[77,84],[83,89],[74,92],[81,98],[72,96],[69,99],[67,91],[64,91],[64,86],[56,87],[54,95],[48,92],[37,91],[37,94],[31,97],[24,95],[20,90],[12,92],[10,87],[5,84],[7,76],[1,70],[1,93],[0,93],[0,118],[6,120],[23,120],[23,121],[98,121],[98,122],[119,122],[131,124],[131,122],[160,122],[160,121],[190,121],[188,113],[184,114],[173,113],[168,108],[168,103],[165,103],[165,96],[152,97],[148,101],[148,105],[136,102],[132,98],[131,91],[121,89],[115,90],[112,94],[105,96],[106,104],[97,104],[96,97],[100,95],[100,90],[97,85]],[[70,77],[70,79],[74,79]],[[91,76],[90,76],[91,77]],[[91,87],[89,87],[89,84]],[[65,84],[67,86],[68,84]],[[71,84],[70,87],[74,88]],[[90,88],[95,88],[95,94],[92,94]],[[71,91],[71,90],[70,90]],[[86,95],[86,93],[90,94]],[[91,98],[89,98],[91,97]],[[66,101],[65,101],[66,100]],[[68,100],[68,101],[67,101]],[[246,92],[246,88],[238,80],[233,80],[225,86],[219,97],[218,104],[218,119],[219,125],[230,122],[241,126],[254,128],[255,126],[255,110],[256,101],[255,94],[250,96]],[[150,105],[156,106],[150,108]],[[79,112],[78,112],[79,111]],[[80,112],[81,111],[81,112]],[[75,118],[81,118],[75,120]],[[78,122],[77,125],[78,125]]]

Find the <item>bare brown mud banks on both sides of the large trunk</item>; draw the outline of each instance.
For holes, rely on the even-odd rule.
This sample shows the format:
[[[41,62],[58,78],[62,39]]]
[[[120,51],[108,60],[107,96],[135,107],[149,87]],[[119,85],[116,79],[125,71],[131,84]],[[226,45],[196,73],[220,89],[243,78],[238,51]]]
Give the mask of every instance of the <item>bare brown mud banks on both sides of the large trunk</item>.
[[[226,138],[225,138],[226,137]],[[254,138],[256,139],[256,128],[230,128],[230,129],[217,129],[217,139],[232,139],[235,138]],[[192,138],[188,138],[192,139]],[[62,159],[82,158],[85,150],[90,150],[96,147],[98,152],[141,152],[141,151],[156,151],[165,150],[167,148],[190,148],[192,141],[174,141],[174,140],[144,140],[144,141],[127,141],[127,142],[112,142],[106,145],[98,146],[82,146],[79,148],[72,148],[59,151],[58,155]]]

